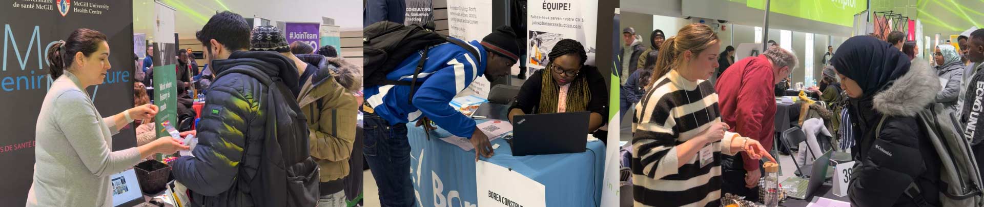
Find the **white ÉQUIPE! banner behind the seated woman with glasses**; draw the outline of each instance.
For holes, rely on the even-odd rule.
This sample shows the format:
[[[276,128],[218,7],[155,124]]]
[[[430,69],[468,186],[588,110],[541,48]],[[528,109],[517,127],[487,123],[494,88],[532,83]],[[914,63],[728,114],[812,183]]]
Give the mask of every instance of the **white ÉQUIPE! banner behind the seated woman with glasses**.
[[[561,39],[571,38],[584,44],[586,63],[594,62],[594,38],[598,2],[594,0],[554,0],[527,2],[528,59],[530,69],[549,64],[549,53]],[[532,72],[530,72],[532,73]]]

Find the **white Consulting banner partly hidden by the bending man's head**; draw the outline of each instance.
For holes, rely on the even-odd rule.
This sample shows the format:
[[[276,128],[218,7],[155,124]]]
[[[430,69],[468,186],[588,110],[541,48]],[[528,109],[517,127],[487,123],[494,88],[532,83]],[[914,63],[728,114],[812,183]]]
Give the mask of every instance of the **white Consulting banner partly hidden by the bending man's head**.
[[[492,33],[492,0],[448,0],[448,34],[464,41],[481,40]],[[476,78],[457,97],[488,99],[488,79]]]

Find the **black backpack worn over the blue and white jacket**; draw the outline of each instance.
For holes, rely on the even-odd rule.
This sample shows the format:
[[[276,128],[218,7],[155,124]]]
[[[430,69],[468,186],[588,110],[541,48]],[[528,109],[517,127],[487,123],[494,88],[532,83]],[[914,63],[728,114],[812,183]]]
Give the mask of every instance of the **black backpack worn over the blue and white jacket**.
[[[420,59],[427,59],[427,50],[430,47],[445,42],[458,44],[467,49],[475,58],[480,58],[471,45],[461,39],[450,36],[440,35],[433,31],[426,30],[418,25],[403,26],[393,22],[378,22],[363,31],[363,86],[375,87],[386,85],[417,86],[417,74],[424,67],[424,61],[417,63],[416,70],[413,71],[411,81],[392,81],[386,80],[386,75],[397,69],[397,65],[404,59],[417,51],[423,50]],[[410,89],[410,100],[416,87]]]

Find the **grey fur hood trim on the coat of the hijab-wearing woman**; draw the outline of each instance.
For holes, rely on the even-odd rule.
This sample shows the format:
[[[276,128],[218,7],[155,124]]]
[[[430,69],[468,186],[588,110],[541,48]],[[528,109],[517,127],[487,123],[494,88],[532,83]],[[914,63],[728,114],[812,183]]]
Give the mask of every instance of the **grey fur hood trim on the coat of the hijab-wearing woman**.
[[[875,109],[885,115],[914,116],[936,101],[941,90],[936,71],[925,60],[915,59],[909,71],[875,95]]]

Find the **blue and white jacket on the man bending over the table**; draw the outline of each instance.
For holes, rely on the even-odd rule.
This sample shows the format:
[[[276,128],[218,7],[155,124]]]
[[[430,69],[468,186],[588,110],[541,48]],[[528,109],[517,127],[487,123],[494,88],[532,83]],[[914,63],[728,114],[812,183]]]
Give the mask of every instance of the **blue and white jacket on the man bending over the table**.
[[[410,104],[410,86],[375,86],[364,90],[366,103],[390,124],[402,124],[427,116],[455,136],[471,138],[475,121],[461,114],[449,103],[471,82],[485,74],[486,51],[478,41],[468,42],[481,56],[474,56],[458,44],[443,43],[428,50],[424,67],[417,75],[417,91]],[[423,50],[420,50],[423,51]],[[410,81],[420,61],[410,55],[397,69],[386,75],[387,80]]]

